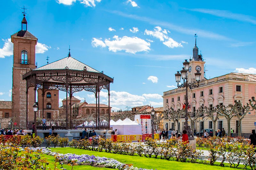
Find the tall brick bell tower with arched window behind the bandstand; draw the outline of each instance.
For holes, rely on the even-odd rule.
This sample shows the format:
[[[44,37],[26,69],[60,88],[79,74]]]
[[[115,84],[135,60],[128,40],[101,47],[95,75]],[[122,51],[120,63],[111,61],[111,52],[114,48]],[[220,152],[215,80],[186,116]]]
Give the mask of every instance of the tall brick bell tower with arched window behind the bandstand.
[[[22,75],[26,74],[30,68],[36,68],[35,55],[37,38],[28,32],[28,22],[24,17],[21,21],[21,30],[11,35],[13,43],[13,67],[12,67],[12,115],[17,127],[26,128],[26,115],[28,107],[28,121],[34,119],[33,104],[35,103],[35,93],[33,88],[28,89],[28,106],[26,106],[26,80],[22,80]]]

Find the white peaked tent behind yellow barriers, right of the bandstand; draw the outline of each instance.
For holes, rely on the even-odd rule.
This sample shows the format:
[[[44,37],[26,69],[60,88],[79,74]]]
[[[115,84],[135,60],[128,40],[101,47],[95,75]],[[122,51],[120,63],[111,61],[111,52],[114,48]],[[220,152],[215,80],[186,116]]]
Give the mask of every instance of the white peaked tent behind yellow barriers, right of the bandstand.
[[[122,122],[113,124],[113,129],[117,129],[119,135],[141,135],[141,125],[126,118]]]

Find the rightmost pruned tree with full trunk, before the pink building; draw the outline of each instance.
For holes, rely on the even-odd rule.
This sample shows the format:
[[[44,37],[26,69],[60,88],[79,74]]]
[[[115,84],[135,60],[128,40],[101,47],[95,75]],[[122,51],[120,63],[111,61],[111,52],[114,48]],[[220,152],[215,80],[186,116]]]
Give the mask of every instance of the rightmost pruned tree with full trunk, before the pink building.
[[[238,119],[238,136],[241,136],[241,133],[242,133],[242,119],[244,118],[244,116],[249,111],[252,111],[252,110],[251,110],[251,107],[248,103],[247,103],[246,106],[245,105],[243,106],[240,100],[238,102],[235,100],[234,102],[235,102],[235,104],[237,104],[236,111],[238,112],[238,114],[236,114],[236,117]]]

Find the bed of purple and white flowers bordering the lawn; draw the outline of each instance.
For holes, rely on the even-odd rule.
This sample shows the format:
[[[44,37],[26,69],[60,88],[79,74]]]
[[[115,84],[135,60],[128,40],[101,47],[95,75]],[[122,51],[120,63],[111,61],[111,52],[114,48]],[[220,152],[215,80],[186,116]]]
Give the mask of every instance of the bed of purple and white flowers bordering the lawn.
[[[38,149],[36,148],[30,148],[30,150],[36,152]],[[50,149],[40,149],[40,151],[46,155],[51,155],[51,156],[58,156],[60,162],[69,164],[70,162],[76,162],[77,165],[91,165],[91,166],[96,166],[96,167],[106,167],[106,168],[113,168],[113,169],[120,169],[120,170],[148,170],[145,168],[138,168],[134,167],[131,164],[123,164],[116,159],[111,159],[111,158],[106,158],[106,157],[99,157],[99,156],[90,156],[86,154],[82,155],[76,155],[72,153],[67,153],[67,154],[61,154],[61,153],[56,153],[52,152]]]

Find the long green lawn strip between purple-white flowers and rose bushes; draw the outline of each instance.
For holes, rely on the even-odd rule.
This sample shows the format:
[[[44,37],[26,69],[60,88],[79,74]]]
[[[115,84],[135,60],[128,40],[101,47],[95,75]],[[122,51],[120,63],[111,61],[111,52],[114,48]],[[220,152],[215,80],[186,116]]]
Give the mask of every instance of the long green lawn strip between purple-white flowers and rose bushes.
[[[81,154],[88,154],[88,155],[95,155],[100,157],[107,157],[116,159],[122,163],[126,164],[133,164],[133,166],[139,168],[147,168],[147,169],[157,169],[157,170],[170,170],[170,169],[179,169],[179,170],[234,170],[234,168],[230,167],[220,167],[220,166],[210,166],[204,164],[192,164],[192,163],[183,163],[177,161],[168,161],[163,159],[155,159],[155,158],[145,158],[139,156],[129,156],[129,155],[120,155],[114,153],[106,153],[106,152],[96,152],[96,151],[88,151],[83,149],[74,149],[74,148],[51,148],[54,152],[60,153],[75,153],[78,155]],[[216,162],[216,164],[219,164]],[[78,169],[79,167],[75,167]],[[108,168],[107,168],[108,169]],[[109,169],[108,169],[109,170]]]

